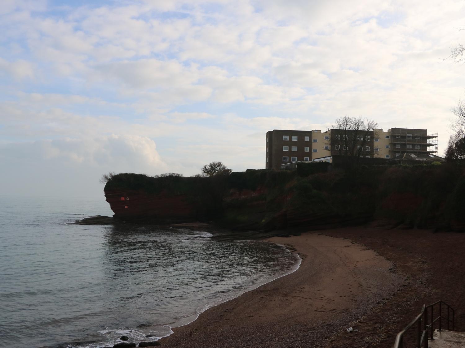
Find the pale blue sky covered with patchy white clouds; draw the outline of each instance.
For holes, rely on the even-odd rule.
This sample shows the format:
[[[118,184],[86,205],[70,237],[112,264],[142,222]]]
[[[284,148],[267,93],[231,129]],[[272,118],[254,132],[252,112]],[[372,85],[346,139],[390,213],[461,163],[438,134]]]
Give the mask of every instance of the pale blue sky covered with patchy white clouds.
[[[264,168],[273,129],[362,116],[437,132],[465,1],[2,0],[0,190],[103,195],[102,174]]]

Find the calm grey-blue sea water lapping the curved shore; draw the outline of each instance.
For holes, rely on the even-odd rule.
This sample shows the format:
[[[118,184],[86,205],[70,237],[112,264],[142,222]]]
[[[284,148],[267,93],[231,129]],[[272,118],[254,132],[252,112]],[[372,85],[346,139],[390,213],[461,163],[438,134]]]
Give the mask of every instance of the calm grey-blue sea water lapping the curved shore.
[[[260,241],[69,224],[98,214],[113,214],[103,197],[3,198],[0,346],[103,347],[121,335],[154,340],[299,264],[297,255]]]

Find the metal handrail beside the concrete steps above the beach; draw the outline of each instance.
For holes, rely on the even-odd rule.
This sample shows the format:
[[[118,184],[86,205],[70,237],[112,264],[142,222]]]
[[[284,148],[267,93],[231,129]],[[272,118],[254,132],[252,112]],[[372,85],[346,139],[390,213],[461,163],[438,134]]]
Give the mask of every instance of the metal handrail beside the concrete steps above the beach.
[[[439,307],[438,316],[434,318],[434,306]],[[443,316],[443,307],[447,307],[447,317]],[[430,310],[431,309],[431,310]],[[431,316],[428,315],[428,312],[431,312]],[[452,319],[451,317],[452,312]],[[428,317],[431,318],[431,322],[428,322]],[[425,304],[421,308],[420,314],[408,324],[405,329],[400,331],[396,336],[396,342],[394,343],[394,348],[404,348],[404,334],[407,332],[408,329],[412,328],[415,324],[417,324],[417,332],[416,332],[416,347],[417,348],[428,348],[428,336],[429,339],[433,339],[433,332],[434,332],[434,323],[438,322],[438,329],[441,331],[442,327],[442,320],[446,321],[447,330],[450,329],[450,324],[452,323],[452,331],[455,331],[455,311],[454,309],[445,303],[442,300],[439,300],[435,303],[426,306]]]

